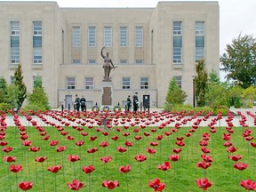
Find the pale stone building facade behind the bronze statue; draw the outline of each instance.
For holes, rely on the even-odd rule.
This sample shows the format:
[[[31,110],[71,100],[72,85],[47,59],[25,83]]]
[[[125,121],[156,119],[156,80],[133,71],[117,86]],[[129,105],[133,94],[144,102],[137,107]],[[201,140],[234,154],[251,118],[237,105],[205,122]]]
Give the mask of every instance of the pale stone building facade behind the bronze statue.
[[[117,67],[112,105],[138,92],[163,107],[172,77],[193,103],[196,62],[219,74],[218,2],[159,2],[156,8],[60,8],[56,2],[0,2],[0,76],[21,64],[28,92],[41,78],[52,108],[102,102],[106,47]]]

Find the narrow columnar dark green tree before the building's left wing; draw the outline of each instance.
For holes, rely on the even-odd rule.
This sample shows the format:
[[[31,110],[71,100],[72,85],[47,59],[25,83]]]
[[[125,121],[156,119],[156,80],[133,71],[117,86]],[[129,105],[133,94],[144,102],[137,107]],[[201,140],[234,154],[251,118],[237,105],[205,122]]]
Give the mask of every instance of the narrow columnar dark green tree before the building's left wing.
[[[21,71],[21,65],[18,65],[18,68],[14,73],[14,84],[17,86],[18,92],[18,100],[17,105],[18,108],[21,108],[23,101],[27,98],[27,86],[23,82],[23,75]]]

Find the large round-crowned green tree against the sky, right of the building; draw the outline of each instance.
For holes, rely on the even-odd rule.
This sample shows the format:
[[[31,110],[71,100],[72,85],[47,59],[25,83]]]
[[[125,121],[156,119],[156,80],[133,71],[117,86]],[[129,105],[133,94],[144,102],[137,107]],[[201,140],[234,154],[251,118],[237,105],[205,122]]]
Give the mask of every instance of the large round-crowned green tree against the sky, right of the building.
[[[256,85],[256,39],[241,34],[228,44],[220,56],[220,70],[228,73],[228,80],[247,88]]]

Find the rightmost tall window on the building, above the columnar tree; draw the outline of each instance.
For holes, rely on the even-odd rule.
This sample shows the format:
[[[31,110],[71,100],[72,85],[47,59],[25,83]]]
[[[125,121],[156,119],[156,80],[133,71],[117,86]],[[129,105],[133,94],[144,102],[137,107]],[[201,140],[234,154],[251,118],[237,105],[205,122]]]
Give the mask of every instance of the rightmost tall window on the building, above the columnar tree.
[[[196,21],[196,62],[204,59],[204,21]]]

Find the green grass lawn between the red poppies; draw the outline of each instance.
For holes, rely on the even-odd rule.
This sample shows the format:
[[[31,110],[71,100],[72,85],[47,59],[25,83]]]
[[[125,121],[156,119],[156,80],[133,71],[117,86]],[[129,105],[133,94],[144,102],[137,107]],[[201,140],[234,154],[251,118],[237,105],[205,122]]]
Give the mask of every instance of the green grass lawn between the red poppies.
[[[82,126],[81,126],[82,127]],[[29,191],[68,191],[68,182],[72,180],[80,180],[84,182],[84,188],[80,191],[108,191],[108,188],[101,186],[103,180],[118,180],[119,187],[114,188],[113,191],[154,191],[153,188],[148,187],[148,181],[154,178],[159,178],[161,182],[166,184],[164,191],[202,191],[202,188],[198,188],[196,180],[206,178],[212,181],[212,187],[208,188],[207,191],[216,192],[230,192],[230,191],[244,191],[244,188],[240,186],[240,181],[245,179],[254,180],[256,178],[256,148],[250,146],[250,141],[244,140],[242,133],[244,128],[234,127],[235,133],[231,134],[231,142],[238,148],[234,155],[242,156],[239,162],[248,164],[248,168],[244,171],[237,171],[233,164],[235,162],[228,159],[228,152],[226,147],[223,146],[225,140],[222,140],[222,133],[227,132],[225,127],[216,127],[217,132],[211,133],[209,128],[199,127],[196,132],[190,137],[186,137],[184,134],[188,133],[191,127],[181,127],[178,132],[172,132],[172,135],[165,136],[164,132],[170,132],[173,127],[164,127],[164,129],[158,129],[157,127],[146,127],[140,129],[140,127],[130,126],[128,129],[123,128],[122,132],[116,132],[117,127],[113,127],[112,130],[102,130],[102,132],[109,132],[108,136],[104,136],[102,132],[96,132],[94,126],[92,129],[84,126],[84,131],[88,132],[87,136],[82,136],[80,132],[70,127],[63,127],[68,132],[68,135],[73,136],[74,140],[67,140],[66,136],[62,136],[55,127],[45,126],[44,130],[47,132],[46,135],[50,135],[49,140],[42,140],[42,136],[36,130],[34,126],[26,126],[28,140],[32,141],[32,146],[40,147],[40,151],[34,153],[29,151],[28,148],[22,145],[20,140],[20,134],[17,127],[8,127],[6,130],[5,141],[8,142],[7,146],[12,147],[10,153],[0,152],[1,159],[4,156],[15,156],[17,157],[16,162],[6,163],[1,161],[0,164],[0,191],[16,191],[17,180],[21,182],[23,180],[32,181],[34,183],[33,188]],[[140,132],[133,132],[134,128],[139,128]],[[151,128],[155,128],[156,132],[150,132]],[[256,137],[255,127],[252,129],[251,136]],[[124,137],[122,134],[129,132],[130,135]],[[144,136],[144,132],[149,132],[150,136]],[[197,163],[202,161],[201,146],[199,141],[202,140],[202,134],[209,132],[211,137],[208,140],[208,146],[206,148],[211,149],[211,153],[207,154],[212,156],[212,165],[203,170],[196,166]],[[163,140],[156,140],[156,136],[164,135]],[[113,136],[119,136],[118,140],[111,140]],[[141,140],[135,140],[134,136],[140,135]],[[90,137],[97,136],[98,139],[91,141]],[[172,152],[173,148],[180,148],[175,144],[177,137],[184,137],[185,146],[181,147],[180,160],[172,162],[168,159],[170,155],[174,155]],[[58,140],[57,146],[50,146],[49,143],[52,140]],[[76,141],[84,140],[82,147],[76,146]],[[128,140],[133,143],[133,147],[127,148],[124,142]],[[107,148],[101,148],[100,142],[108,141]],[[158,142],[158,146],[155,147],[156,154],[150,155],[146,151],[146,148],[153,148],[149,146],[149,142]],[[252,140],[253,141],[253,140]],[[251,142],[252,142],[251,141]],[[32,147],[31,146],[31,147]],[[57,153],[56,148],[58,146],[66,146],[67,149],[64,152]],[[127,151],[120,153],[116,150],[117,147],[127,148]],[[1,147],[1,148],[4,148]],[[87,153],[87,149],[98,148],[99,150],[93,155]],[[134,159],[134,156],[142,154],[147,156],[147,160],[140,163]],[[68,161],[68,155],[80,156],[80,161],[70,163]],[[47,156],[44,163],[36,163],[35,157]],[[112,156],[111,162],[103,164],[100,161],[102,156]],[[158,170],[157,165],[163,164],[165,161],[171,162],[172,169],[166,172]],[[16,173],[9,171],[11,164],[21,164],[23,171]],[[60,172],[52,173],[47,171],[48,167],[52,165],[62,165]],[[90,175],[85,174],[82,171],[83,166],[94,165],[95,170]],[[131,165],[131,172],[120,173],[120,165]],[[17,177],[16,177],[17,176]],[[44,176],[44,178],[43,178]],[[55,178],[56,177],[56,178]],[[56,179],[56,183],[55,183]],[[56,185],[55,185],[56,184]],[[128,190],[128,189],[129,190]],[[21,191],[20,188],[18,191]]]

